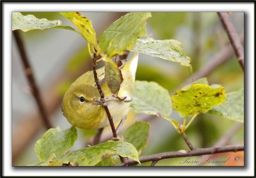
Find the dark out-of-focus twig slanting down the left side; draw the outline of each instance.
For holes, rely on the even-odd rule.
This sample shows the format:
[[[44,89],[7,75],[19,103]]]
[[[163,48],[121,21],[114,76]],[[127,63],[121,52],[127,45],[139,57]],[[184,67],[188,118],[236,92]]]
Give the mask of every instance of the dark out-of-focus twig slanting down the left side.
[[[25,47],[24,47],[24,43],[23,43],[22,39],[20,38],[19,31],[17,31],[17,30],[13,31],[13,34],[14,34],[15,40],[17,42],[17,47],[19,48],[20,59],[22,60],[22,63],[23,63],[23,66],[24,66],[24,71],[26,73],[26,77],[28,78],[29,85],[32,89],[33,96],[36,100],[37,107],[38,107],[38,110],[40,112],[42,121],[44,122],[45,128],[50,129],[50,128],[52,128],[52,126],[51,126],[51,123],[50,123],[49,118],[47,116],[47,113],[46,113],[44,103],[43,103],[42,98],[41,98],[39,88],[36,84],[36,80],[35,80],[35,77],[33,75],[32,68],[29,64],[28,56],[26,54],[26,50],[25,50]]]

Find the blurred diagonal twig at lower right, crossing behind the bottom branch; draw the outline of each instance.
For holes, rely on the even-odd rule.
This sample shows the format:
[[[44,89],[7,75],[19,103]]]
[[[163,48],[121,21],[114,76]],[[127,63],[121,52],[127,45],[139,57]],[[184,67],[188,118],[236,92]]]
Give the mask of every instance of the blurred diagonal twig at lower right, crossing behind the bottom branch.
[[[241,126],[243,126],[243,123],[236,122],[236,124],[234,124],[234,126],[232,126],[232,128],[230,128],[230,130],[228,130],[227,133],[225,133],[225,135],[223,135],[223,137],[221,137],[220,140],[218,140],[218,142],[216,142],[216,144],[214,144],[213,147],[222,147],[225,144],[227,144],[227,142],[232,137],[234,137],[236,132],[241,128]],[[199,161],[198,165],[202,165],[203,161],[207,160],[209,158],[211,158],[211,155],[202,156],[202,158],[200,158],[200,161]]]

